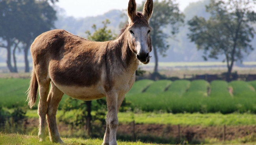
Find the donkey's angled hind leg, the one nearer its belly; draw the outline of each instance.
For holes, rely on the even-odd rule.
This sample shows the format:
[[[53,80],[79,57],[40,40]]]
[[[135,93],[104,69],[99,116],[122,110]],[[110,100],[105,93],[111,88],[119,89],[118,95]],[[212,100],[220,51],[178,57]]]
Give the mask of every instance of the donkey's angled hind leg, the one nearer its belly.
[[[63,92],[58,89],[55,84],[51,81],[50,93],[47,99],[47,122],[49,127],[50,140],[55,143],[63,143],[60,139],[56,123],[56,113],[59,106],[60,100],[62,99]]]

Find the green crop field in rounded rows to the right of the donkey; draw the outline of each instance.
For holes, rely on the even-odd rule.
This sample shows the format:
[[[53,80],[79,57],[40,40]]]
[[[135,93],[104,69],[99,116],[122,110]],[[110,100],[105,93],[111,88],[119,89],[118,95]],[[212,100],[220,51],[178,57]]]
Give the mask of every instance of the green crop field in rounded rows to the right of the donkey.
[[[157,83],[159,81],[156,81]],[[162,81],[161,81],[162,82]],[[140,81],[135,82],[140,83]],[[151,85],[155,84],[152,83]],[[148,89],[153,88],[151,85]],[[159,85],[160,86],[160,85]],[[133,102],[131,108],[146,112],[163,110],[172,113],[232,113],[256,112],[256,81],[222,80],[176,80],[168,88],[155,89],[157,93],[145,92],[127,95],[127,100]],[[132,88],[133,89],[133,88]],[[159,90],[166,90],[161,91]],[[229,91],[230,90],[230,91]]]

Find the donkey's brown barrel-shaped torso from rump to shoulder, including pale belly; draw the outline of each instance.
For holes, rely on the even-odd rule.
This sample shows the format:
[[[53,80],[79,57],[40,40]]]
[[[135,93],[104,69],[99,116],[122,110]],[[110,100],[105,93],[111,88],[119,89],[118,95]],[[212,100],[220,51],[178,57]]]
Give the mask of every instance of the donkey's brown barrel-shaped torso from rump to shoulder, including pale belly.
[[[37,80],[54,83],[63,93],[82,100],[104,97],[101,83],[108,42],[94,42],[65,30],[39,35],[31,46]]]

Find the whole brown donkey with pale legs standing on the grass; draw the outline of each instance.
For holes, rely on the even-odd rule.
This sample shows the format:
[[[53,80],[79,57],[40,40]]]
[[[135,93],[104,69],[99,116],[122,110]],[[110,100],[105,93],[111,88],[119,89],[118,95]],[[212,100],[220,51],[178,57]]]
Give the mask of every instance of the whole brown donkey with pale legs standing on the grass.
[[[50,140],[63,143],[56,125],[56,112],[64,93],[75,99],[107,97],[107,129],[103,145],[116,145],[118,110],[133,83],[139,63],[149,63],[151,38],[149,18],[153,0],[136,12],[135,0],[129,0],[129,21],[113,41],[94,42],[65,30],[39,35],[31,45],[34,68],[28,89],[30,108],[39,88],[39,140],[44,141],[45,119]],[[50,92],[49,86],[51,84]]]

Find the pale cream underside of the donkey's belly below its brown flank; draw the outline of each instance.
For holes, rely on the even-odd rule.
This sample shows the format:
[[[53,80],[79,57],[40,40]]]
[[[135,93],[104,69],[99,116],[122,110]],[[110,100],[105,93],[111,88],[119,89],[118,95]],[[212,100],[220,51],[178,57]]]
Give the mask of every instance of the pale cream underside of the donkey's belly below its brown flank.
[[[101,85],[91,87],[62,86],[55,84],[64,94],[80,100],[95,100],[105,97],[105,92]]]

